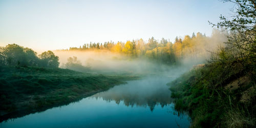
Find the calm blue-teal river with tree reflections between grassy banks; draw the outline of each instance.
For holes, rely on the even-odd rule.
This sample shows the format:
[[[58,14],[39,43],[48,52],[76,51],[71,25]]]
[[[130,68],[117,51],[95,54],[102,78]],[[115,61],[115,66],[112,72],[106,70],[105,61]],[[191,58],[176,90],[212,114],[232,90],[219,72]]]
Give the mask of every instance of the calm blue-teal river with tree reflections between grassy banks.
[[[127,81],[108,91],[44,112],[9,119],[0,127],[189,127],[176,112],[166,83],[155,75]]]

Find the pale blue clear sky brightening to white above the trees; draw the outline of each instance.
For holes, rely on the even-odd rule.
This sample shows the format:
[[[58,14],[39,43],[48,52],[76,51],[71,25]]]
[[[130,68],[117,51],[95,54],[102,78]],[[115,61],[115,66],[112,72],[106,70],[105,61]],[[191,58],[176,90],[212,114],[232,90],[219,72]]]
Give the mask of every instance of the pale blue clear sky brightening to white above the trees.
[[[152,36],[173,42],[193,32],[210,36],[208,20],[218,23],[232,7],[218,0],[0,0],[0,46],[42,51]]]

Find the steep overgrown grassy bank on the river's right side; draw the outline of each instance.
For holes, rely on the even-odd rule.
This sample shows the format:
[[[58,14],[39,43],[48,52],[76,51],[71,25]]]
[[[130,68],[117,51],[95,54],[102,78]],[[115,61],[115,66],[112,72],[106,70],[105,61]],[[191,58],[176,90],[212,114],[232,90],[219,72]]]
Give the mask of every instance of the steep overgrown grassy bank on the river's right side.
[[[226,61],[197,66],[169,85],[175,109],[189,113],[191,127],[254,127],[254,80],[240,63]]]

